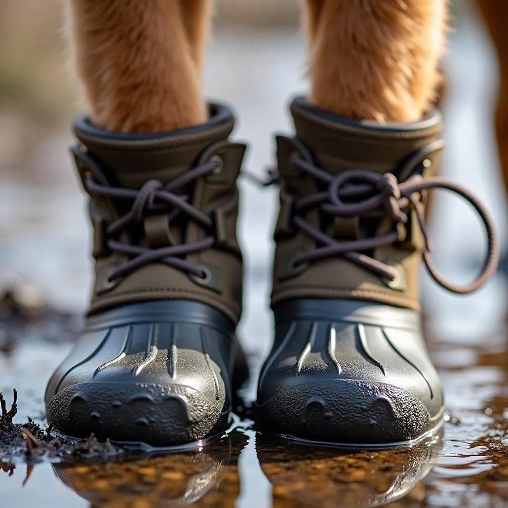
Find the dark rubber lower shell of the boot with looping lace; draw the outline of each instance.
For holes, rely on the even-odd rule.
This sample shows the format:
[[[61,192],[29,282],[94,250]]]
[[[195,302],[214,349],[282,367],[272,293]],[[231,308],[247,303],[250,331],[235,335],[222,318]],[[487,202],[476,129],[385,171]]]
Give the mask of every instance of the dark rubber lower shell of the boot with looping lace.
[[[416,312],[302,299],[274,314],[256,404],[262,428],[312,441],[385,444],[418,439],[439,423],[441,384]]]

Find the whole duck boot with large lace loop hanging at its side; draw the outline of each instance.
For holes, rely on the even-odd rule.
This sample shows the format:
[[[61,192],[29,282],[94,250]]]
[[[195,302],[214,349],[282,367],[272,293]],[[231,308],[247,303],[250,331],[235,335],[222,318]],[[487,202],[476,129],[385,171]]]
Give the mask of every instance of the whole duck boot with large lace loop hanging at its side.
[[[456,293],[495,270],[487,212],[457,184],[433,176],[441,116],[379,125],[296,99],[296,137],[277,138],[280,212],[273,349],[259,379],[262,429],[309,441],[383,447],[415,442],[443,421],[439,377],[422,338],[418,272]],[[480,213],[489,238],[467,287],[429,257],[426,191],[446,188]]]

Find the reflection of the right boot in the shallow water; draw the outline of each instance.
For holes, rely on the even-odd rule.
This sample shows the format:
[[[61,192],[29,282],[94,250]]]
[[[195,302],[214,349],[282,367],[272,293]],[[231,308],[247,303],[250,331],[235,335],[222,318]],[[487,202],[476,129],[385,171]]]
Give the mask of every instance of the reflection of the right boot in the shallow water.
[[[258,432],[256,451],[272,484],[273,506],[384,506],[408,494],[421,506],[421,482],[442,449],[441,436],[412,448],[347,452],[275,440]]]

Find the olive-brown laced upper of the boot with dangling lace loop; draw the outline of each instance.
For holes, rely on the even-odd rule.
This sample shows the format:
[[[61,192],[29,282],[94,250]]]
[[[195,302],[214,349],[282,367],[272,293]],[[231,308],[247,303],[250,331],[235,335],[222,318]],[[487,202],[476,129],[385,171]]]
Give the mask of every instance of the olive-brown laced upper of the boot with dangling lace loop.
[[[333,204],[328,195],[340,194],[348,185],[358,182],[367,188],[363,196],[352,196],[349,200],[342,198],[346,205],[371,199],[373,191],[386,182],[375,176],[356,181],[349,177],[341,182],[340,188],[330,185],[332,178],[347,171],[360,169],[373,175],[393,173],[399,181],[415,173],[426,177],[433,175],[443,146],[440,141],[441,115],[434,111],[420,122],[383,128],[374,122],[334,121],[323,112],[316,113],[303,100],[296,100],[291,112],[296,137],[277,139],[278,168],[283,186],[275,230],[277,251],[272,304],[300,297],[353,298],[418,309],[423,238],[415,213],[404,210],[407,220],[395,224],[393,218],[384,213],[381,200],[366,213],[356,213],[351,206],[351,211],[344,207],[344,212],[339,215],[331,209],[332,213],[328,213],[326,206]],[[330,175],[329,181],[305,172],[298,161],[321,168]],[[309,206],[295,210],[298,199],[318,193],[326,193],[318,206],[310,202]],[[424,203],[421,208],[423,212]],[[292,222],[295,215],[325,235],[327,243],[317,241],[298,228]],[[364,256],[391,267],[393,278],[324,248],[332,245],[334,240],[354,242],[393,232],[397,234],[395,241],[392,239],[363,252]],[[299,262],[302,254],[312,251],[316,258]]]

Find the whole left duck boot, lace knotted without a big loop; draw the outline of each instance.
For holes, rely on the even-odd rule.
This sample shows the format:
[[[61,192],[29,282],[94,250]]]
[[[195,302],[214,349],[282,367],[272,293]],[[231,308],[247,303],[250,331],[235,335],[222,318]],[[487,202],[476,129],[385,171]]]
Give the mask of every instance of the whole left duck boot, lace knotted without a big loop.
[[[235,336],[245,145],[228,141],[229,109],[209,110],[205,124],[153,135],[75,122],[96,280],[84,330],[46,390],[62,433],[172,446],[228,425],[248,376]]]

